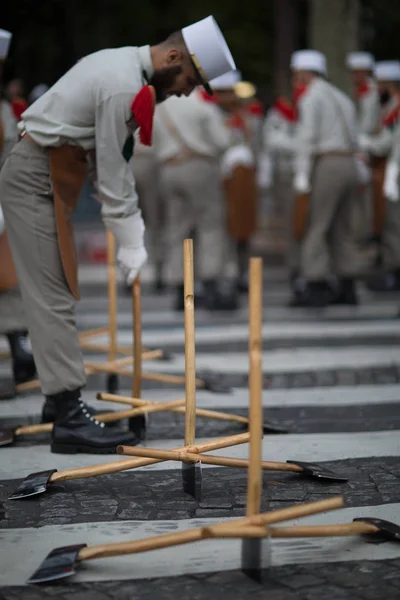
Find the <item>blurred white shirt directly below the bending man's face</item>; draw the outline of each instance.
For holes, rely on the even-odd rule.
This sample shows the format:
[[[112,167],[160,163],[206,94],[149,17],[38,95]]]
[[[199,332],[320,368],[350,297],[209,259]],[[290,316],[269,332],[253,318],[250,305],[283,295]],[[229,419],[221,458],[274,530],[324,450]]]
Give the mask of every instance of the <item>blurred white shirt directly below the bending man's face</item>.
[[[159,162],[179,156],[185,149],[193,154],[217,157],[229,144],[230,132],[220,110],[203,100],[198,91],[189,97],[168,98],[157,106],[153,147]]]

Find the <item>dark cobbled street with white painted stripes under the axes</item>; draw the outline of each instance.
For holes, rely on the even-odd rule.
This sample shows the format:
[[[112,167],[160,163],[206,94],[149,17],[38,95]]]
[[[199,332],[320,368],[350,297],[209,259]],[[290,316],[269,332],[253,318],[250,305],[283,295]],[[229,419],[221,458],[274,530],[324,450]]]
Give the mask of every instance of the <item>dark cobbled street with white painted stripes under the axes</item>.
[[[81,330],[107,323],[104,269],[97,278],[81,270]],[[400,297],[361,288],[356,308],[316,311],[286,308],[289,290],[279,268],[265,270],[263,311],[264,421],[287,430],[266,433],[263,460],[309,461],[348,478],[321,482],[298,473],[264,471],[262,511],[343,495],[345,508],[296,524],[348,523],[375,516],[400,525]],[[183,314],[171,310],[170,294],[156,296],[144,285],[143,343],[171,353],[169,361],[144,364],[146,371],[183,375]],[[196,311],[198,376],[217,375],[230,393],[199,390],[199,408],[246,416],[248,409],[247,298],[237,314]],[[130,345],[130,297],[119,288],[118,339]],[[96,338],[106,343],[106,336]],[[0,350],[6,345],[0,341]],[[106,362],[106,354],[85,353]],[[0,363],[0,378],[9,377]],[[120,405],[95,400],[107,377],[90,376],[85,400],[97,408]],[[119,391],[129,395],[131,379]],[[143,398],[172,400],[184,388],[143,383]],[[38,423],[39,391],[0,402],[3,427]],[[122,408],[127,408],[122,407]],[[123,427],[126,426],[124,423]],[[242,433],[236,423],[197,419],[200,441]],[[184,416],[150,415],[145,445],[171,449],[183,444]],[[182,490],[181,467],[164,462],[99,477],[50,485],[47,492],[9,500],[32,471],[74,468],[117,460],[115,456],[51,454],[49,434],[20,436],[1,449],[0,600],[398,600],[400,544],[363,537],[273,539],[271,563],[256,583],[240,569],[240,542],[208,540],[146,554],[93,560],[59,583],[26,585],[47,553],[56,547],[132,541],[184,531],[246,511],[244,469],[203,465],[203,494]],[[217,452],[246,458],[248,446]],[[294,522],[285,523],[294,524]],[[377,543],[379,541],[379,543]]]

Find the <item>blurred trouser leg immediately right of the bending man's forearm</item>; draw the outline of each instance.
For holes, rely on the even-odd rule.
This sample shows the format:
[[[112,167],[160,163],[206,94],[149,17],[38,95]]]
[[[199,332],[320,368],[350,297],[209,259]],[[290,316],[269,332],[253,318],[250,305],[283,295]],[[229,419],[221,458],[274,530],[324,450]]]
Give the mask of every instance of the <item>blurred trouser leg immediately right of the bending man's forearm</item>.
[[[150,261],[154,264],[165,260],[164,203],[160,193],[159,168],[150,154],[137,154],[132,160],[139,205],[146,224],[147,247]]]

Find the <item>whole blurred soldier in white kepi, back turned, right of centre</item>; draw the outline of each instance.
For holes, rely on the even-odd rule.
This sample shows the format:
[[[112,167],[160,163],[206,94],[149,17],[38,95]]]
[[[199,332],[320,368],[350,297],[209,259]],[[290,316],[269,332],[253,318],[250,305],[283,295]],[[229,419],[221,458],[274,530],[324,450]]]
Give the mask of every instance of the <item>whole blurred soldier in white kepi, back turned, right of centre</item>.
[[[351,100],[326,81],[326,59],[313,50],[295,52],[293,83],[299,100],[294,167],[294,234],[301,240],[306,287],[294,306],[356,304],[355,239],[351,214],[359,183],[355,161],[356,112]],[[337,287],[332,290],[330,280]]]

